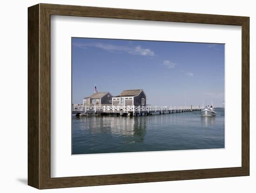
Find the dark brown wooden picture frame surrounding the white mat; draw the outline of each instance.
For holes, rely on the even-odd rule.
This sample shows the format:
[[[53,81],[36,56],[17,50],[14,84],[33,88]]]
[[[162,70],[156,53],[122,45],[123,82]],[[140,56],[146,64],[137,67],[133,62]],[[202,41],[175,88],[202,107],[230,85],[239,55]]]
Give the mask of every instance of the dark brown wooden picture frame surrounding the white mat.
[[[138,19],[242,26],[242,167],[51,178],[50,16]],[[28,8],[28,185],[38,188],[249,175],[249,17],[38,4]]]

